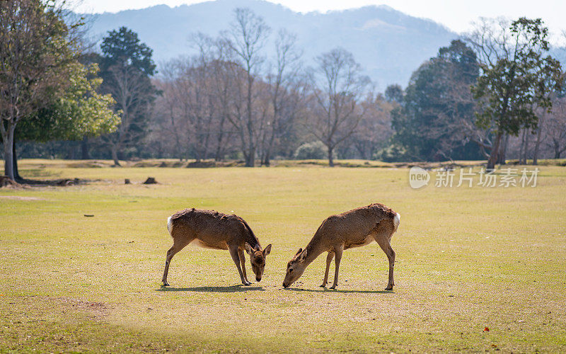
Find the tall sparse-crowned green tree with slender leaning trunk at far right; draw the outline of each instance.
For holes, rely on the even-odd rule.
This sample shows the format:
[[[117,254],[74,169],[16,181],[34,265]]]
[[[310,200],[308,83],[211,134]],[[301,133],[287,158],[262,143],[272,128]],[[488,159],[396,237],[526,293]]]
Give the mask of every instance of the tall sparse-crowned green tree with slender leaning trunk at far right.
[[[552,108],[550,92],[560,89],[561,68],[553,57],[544,56],[547,37],[548,28],[540,18],[519,18],[508,27],[505,21],[483,19],[468,37],[481,71],[473,86],[479,104],[476,125],[495,135],[487,169],[495,168],[505,134],[536,130],[536,108]]]

